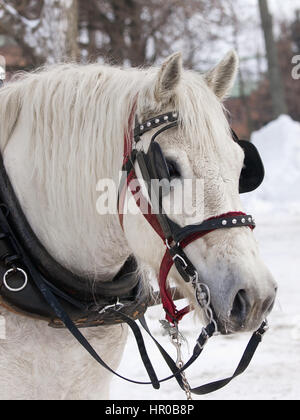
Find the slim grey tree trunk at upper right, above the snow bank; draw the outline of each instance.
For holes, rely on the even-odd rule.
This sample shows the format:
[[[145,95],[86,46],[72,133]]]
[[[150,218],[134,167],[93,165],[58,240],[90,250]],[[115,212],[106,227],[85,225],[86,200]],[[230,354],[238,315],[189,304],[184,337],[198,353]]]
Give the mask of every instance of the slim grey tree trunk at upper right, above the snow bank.
[[[268,71],[273,106],[273,117],[277,118],[281,114],[287,114],[288,110],[278,63],[278,51],[273,33],[273,18],[269,12],[268,1],[258,0],[258,2],[268,59]]]

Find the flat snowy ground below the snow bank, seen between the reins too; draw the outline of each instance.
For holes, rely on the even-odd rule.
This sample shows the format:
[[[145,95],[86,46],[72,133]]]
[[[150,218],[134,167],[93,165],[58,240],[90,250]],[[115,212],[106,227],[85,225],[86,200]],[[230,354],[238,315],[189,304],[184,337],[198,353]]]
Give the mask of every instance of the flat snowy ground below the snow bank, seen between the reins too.
[[[281,224],[264,223],[256,229],[262,255],[271,268],[278,284],[277,304],[269,317],[270,330],[257,350],[248,370],[236,378],[223,390],[214,394],[194,399],[300,399],[300,217],[294,220],[282,220]],[[161,337],[158,319],[163,314],[158,309],[147,313],[149,325],[170,352],[166,337]],[[183,323],[183,332],[190,342],[195,340],[192,331],[199,331],[200,326],[189,318]],[[249,335],[235,337],[215,337],[207,344],[205,352],[187,371],[192,386],[206,381],[231,375],[244,350]],[[131,378],[146,379],[135,342],[130,338],[123,357],[120,371]],[[157,361],[157,371],[163,376],[168,374],[164,362],[149,342],[150,354]],[[114,379],[112,399],[184,399],[183,392],[175,380],[162,384],[160,391],[150,386],[124,384]]]

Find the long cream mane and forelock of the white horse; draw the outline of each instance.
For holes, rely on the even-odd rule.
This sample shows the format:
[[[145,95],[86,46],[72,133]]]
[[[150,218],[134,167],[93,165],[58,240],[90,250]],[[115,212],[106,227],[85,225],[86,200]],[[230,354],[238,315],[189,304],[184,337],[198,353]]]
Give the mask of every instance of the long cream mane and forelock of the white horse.
[[[30,128],[32,177],[47,189],[52,208],[69,216],[64,220],[66,231],[72,231],[70,221],[76,220],[82,238],[93,236],[96,185],[101,178],[118,182],[124,129],[137,95],[141,119],[145,110],[153,116],[176,109],[179,130],[192,149],[202,155],[224,152],[228,124],[204,78],[183,71],[173,103],[162,104],[154,100],[157,71],[155,67],[60,64],[22,74],[1,88],[1,151],[23,115]],[[93,221],[90,226],[87,220]],[[94,236],[95,242],[103,240]],[[120,261],[122,258],[120,254]],[[76,261],[70,261],[73,266]]]

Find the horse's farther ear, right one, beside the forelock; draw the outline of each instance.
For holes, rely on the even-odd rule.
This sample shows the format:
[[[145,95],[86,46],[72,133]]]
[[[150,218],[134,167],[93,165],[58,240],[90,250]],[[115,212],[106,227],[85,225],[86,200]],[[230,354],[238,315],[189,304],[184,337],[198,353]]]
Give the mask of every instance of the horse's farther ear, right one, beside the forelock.
[[[223,60],[204,75],[208,86],[216,96],[223,100],[232,89],[239,67],[237,53],[232,50],[226,54]]]

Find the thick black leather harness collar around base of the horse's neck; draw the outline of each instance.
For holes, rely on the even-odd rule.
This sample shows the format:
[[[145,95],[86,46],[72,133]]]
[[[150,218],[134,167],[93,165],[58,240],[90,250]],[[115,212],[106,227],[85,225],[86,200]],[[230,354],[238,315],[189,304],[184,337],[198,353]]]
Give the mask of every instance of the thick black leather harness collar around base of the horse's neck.
[[[122,306],[122,311],[132,319],[145,313],[150,296],[143,290],[133,256],[112,281],[104,284],[71,273],[47,252],[20,207],[2,157],[0,200],[0,305],[44,319],[52,327],[64,327],[31,278],[39,276],[78,327],[124,322],[117,312],[105,310],[117,303],[116,297],[122,300],[118,307]],[[23,287],[25,276],[28,278]]]

